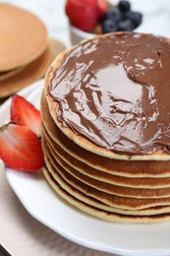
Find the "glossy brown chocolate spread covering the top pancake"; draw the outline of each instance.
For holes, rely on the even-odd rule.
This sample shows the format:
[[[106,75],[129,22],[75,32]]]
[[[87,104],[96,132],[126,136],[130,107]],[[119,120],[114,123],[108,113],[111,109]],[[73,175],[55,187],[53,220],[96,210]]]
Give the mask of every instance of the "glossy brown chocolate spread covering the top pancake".
[[[64,56],[49,86],[63,126],[129,155],[170,153],[170,42],[134,32],[90,39]]]

